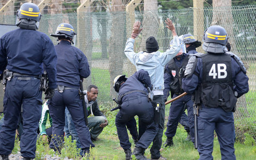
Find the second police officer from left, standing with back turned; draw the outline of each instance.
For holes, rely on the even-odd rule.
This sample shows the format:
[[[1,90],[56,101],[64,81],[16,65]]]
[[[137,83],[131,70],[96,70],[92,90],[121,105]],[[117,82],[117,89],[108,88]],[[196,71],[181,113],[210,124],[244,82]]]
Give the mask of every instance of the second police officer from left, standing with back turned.
[[[60,41],[55,45],[57,60],[57,85],[54,97],[50,100],[49,111],[52,117],[53,138],[50,148],[60,153],[65,126],[65,108],[67,107],[76,126],[81,148],[84,154],[94,147],[91,141],[89,128],[85,124],[82,99],[79,97],[80,78],[86,78],[91,71],[84,53],[71,45],[76,35],[73,26],[60,23],[53,37]]]

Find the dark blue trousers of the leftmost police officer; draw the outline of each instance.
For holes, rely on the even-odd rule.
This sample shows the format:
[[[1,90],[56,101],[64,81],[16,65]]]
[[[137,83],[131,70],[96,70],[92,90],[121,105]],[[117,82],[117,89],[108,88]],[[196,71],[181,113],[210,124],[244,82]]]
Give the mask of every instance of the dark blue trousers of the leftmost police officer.
[[[0,155],[11,154],[15,132],[23,108],[23,134],[20,139],[21,156],[35,158],[37,129],[42,113],[42,91],[40,80],[31,77],[20,80],[14,76],[7,81],[4,95],[4,124],[0,131]]]

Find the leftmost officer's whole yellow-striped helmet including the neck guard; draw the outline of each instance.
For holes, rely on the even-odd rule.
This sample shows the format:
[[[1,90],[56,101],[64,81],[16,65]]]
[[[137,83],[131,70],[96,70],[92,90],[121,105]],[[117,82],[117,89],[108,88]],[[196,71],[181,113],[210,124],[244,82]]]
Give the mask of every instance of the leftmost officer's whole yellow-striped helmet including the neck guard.
[[[17,11],[16,25],[24,29],[36,30],[41,19],[39,8],[34,3],[24,3]]]

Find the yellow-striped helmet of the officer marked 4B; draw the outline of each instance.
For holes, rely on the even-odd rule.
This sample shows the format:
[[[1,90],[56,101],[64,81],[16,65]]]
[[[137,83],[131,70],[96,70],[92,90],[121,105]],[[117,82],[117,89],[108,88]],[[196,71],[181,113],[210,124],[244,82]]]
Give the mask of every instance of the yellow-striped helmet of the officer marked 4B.
[[[211,26],[204,31],[203,50],[210,53],[227,52],[228,35],[221,26]]]

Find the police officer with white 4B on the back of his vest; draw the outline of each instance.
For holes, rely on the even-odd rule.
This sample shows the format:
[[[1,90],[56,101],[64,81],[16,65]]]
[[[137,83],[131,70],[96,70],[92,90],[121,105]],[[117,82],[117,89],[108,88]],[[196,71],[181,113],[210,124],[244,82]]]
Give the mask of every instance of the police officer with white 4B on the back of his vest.
[[[196,53],[189,59],[182,82],[183,90],[194,92],[195,102],[201,102],[197,117],[199,159],[213,159],[214,130],[221,159],[236,159],[232,111],[237,98],[249,91],[249,78],[243,62],[227,52],[227,33],[223,27],[207,28],[203,41],[206,54]]]

